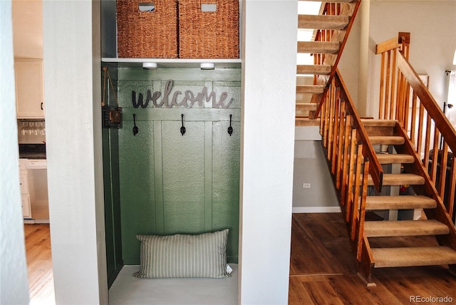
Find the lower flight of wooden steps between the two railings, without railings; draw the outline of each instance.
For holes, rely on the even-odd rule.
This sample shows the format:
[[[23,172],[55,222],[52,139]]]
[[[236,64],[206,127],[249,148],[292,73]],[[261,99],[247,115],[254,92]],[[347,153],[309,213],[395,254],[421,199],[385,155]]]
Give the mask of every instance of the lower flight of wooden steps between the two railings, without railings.
[[[429,180],[426,180],[425,172],[420,162],[415,162],[415,157],[410,154],[413,150],[412,143],[405,136],[405,132],[398,120],[361,120],[368,138],[374,145],[382,145],[383,151],[377,150],[376,157],[383,166],[397,164],[407,168],[405,173],[383,174],[383,187],[400,187],[408,185],[409,195],[378,194],[366,197],[366,211],[381,210],[426,210],[426,214],[432,217],[436,214],[437,200],[432,198],[432,192],[426,189],[432,188]],[[385,149],[388,146],[388,149]],[[396,153],[399,152],[399,153]],[[368,177],[368,185],[373,187],[373,179]],[[412,267],[430,265],[453,265],[456,266],[456,232],[450,217],[437,217],[431,219],[422,217],[420,219],[408,219],[398,221],[365,221],[364,237],[366,247],[372,242],[377,247],[371,247],[372,264],[374,268],[385,267]],[[394,219],[393,219],[394,220]],[[435,235],[440,239],[447,239],[448,242],[441,242],[435,247],[420,247],[418,237]],[[375,242],[378,237],[416,237],[417,247],[388,247],[388,242]],[[378,247],[378,244],[385,244],[387,247]],[[447,245],[445,245],[447,244]],[[364,274],[369,284],[372,284],[371,270]]]

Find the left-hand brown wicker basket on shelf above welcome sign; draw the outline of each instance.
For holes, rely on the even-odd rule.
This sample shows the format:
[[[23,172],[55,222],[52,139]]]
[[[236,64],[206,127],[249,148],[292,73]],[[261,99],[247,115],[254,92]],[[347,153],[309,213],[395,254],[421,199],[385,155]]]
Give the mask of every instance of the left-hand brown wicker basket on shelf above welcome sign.
[[[118,57],[176,58],[177,0],[117,0],[117,35]]]

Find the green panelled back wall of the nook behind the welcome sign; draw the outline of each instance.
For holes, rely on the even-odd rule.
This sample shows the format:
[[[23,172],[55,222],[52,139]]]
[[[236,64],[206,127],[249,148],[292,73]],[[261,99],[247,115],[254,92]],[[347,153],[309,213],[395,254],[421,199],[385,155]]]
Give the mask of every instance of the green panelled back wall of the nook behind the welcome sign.
[[[227,257],[237,263],[239,240],[240,69],[118,69],[123,128],[118,130],[120,215],[124,264],[139,264],[136,234],[198,234],[229,228]],[[212,103],[192,108],[133,108],[132,91],[175,91],[195,96],[204,87],[234,98],[227,109]],[[159,98],[159,101],[162,97]],[[133,135],[133,113],[139,133]],[[181,135],[184,114],[185,135]],[[234,133],[229,136],[229,115]]]

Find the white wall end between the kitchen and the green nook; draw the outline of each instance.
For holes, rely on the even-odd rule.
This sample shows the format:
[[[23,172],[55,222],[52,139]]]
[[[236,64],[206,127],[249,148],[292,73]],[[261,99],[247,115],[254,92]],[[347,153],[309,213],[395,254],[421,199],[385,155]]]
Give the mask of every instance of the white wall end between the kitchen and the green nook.
[[[108,304],[100,2],[44,1],[49,215],[57,304]]]

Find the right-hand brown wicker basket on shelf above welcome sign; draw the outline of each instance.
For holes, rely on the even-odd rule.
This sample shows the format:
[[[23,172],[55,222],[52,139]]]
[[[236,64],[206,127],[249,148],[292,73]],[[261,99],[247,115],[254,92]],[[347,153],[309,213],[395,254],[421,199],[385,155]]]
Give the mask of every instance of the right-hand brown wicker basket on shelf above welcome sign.
[[[239,1],[179,0],[179,57],[239,58]]]

